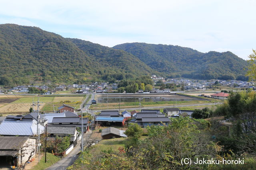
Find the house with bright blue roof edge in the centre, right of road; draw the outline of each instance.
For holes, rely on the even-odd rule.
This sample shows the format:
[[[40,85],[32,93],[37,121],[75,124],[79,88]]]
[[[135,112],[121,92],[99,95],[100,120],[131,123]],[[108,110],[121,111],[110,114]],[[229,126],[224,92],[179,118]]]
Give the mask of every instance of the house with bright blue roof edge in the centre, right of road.
[[[117,126],[124,126],[125,118],[124,117],[111,117],[110,115],[104,116],[96,116],[95,123],[98,125],[117,125]]]

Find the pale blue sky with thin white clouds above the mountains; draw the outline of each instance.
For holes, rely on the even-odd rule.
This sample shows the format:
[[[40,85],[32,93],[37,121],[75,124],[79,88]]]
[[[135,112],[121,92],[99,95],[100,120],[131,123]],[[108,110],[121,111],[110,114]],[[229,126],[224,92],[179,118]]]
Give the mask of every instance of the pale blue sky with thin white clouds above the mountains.
[[[256,49],[256,0],[0,0],[0,24],[36,26],[113,47],[143,42],[200,52]]]

